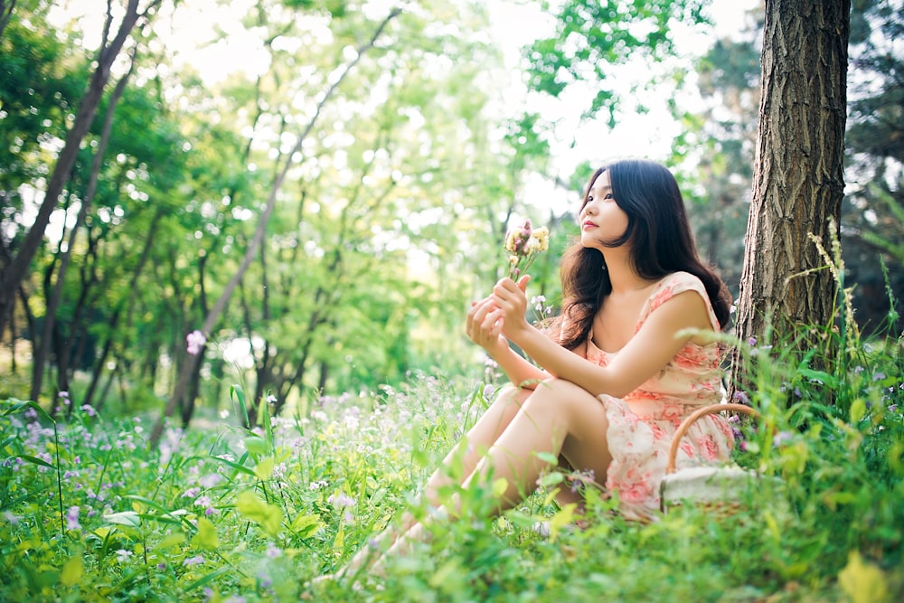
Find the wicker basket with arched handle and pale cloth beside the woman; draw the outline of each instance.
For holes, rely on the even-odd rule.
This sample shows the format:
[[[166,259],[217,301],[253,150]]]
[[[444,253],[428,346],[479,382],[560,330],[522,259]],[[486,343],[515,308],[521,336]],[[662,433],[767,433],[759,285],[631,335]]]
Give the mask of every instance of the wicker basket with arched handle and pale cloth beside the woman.
[[[694,410],[675,431],[669,449],[665,476],[659,486],[660,509],[667,513],[681,504],[693,504],[707,513],[730,515],[746,506],[749,493],[762,485],[764,478],[752,469],[739,466],[693,466],[675,468],[681,439],[694,421],[706,415],[730,410],[757,417],[757,410],[743,404],[711,404]]]

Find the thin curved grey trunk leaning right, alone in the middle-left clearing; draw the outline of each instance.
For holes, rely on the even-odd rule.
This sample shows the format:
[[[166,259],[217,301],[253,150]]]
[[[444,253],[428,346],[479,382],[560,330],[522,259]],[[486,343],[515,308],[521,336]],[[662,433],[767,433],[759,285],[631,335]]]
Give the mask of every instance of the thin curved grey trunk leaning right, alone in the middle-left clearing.
[[[354,66],[358,64],[358,61],[361,61],[362,57],[366,52],[372,49],[373,45],[376,43],[377,38],[380,37],[383,29],[390,23],[392,19],[398,16],[401,13],[400,8],[393,9],[389,15],[381,24],[377,26],[377,29],[374,31],[371,39],[368,42],[363,43],[355,53],[355,56],[352,61],[346,65],[343,73],[336,78],[333,85],[330,86],[324,93],[323,97],[317,103],[317,107],[314,112],[314,116],[308,121],[305,130],[299,135],[297,138],[295,146],[292,148],[292,151],[288,153],[286,157],[286,161],[283,164],[282,170],[279,172],[276,180],[274,181],[272,187],[270,188],[270,194],[267,200],[267,205],[264,208],[264,212],[260,215],[258,220],[257,230],[254,232],[254,237],[251,239],[248,249],[245,250],[245,257],[242,259],[239,269],[236,270],[236,273],[232,276],[230,281],[226,284],[226,287],[223,289],[223,292],[219,299],[217,299],[216,304],[212,307],[211,311],[207,314],[207,317],[204,319],[204,324],[202,325],[201,331],[205,335],[209,335],[213,326],[216,325],[217,321],[220,320],[220,315],[223,310],[226,308],[226,304],[229,302],[230,297],[232,297],[232,293],[235,291],[235,287],[238,286],[241,278],[244,277],[245,271],[248,270],[248,267],[251,264],[251,261],[254,259],[257,254],[258,247],[261,242],[264,240],[264,235],[267,231],[267,224],[270,219],[270,215],[273,213],[273,209],[276,206],[277,195],[279,189],[281,188],[283,181],[286,179],[286,174],[289,169],[293,165],[293,156],[301,150],[303,143],[305,142],[306,137],[310,134],[311,130],[314,129],[314,126],[317,122],[317,119],[320,117],[320,112],[323,110],[326,102],[333,96],[335,90],[339,88],[339,85],[345,80],[345,77],[353,70]],[[188,389],[189,382],[191,381],[192,373],[197,370],[197,368],[201,364],[201,357],[206,349],[206,346],[202,347],[201,353],[198,353],[196,356],[189,355],[188,358],[182,364],[181,370],[179,372],[179,377],[175,383],[173,395],[166,403],[166,408],[164,410],[163,415],[160,419],[157,420],[154,430],[151,432],[150,438],[150,446],[152,448],[156,448],[157,444],[160,441],[160,436],[163,435],[164,430],[164,421],[167,417],[173,414],[175,407],[179,404],[179,402],[184,398],[185,393]]]

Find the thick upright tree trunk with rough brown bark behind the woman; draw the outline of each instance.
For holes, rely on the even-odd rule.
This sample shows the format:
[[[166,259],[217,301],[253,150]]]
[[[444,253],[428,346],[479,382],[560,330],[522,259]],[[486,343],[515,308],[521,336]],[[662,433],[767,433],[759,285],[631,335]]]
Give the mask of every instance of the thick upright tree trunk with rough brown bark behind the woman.
[[[737,333],[831,325],[838,284],[825,250],[843,197],[850,0],[767,0],[758,157],[741,274]],[[803,349],[815,340],[801,341]],[[746,389],[736,353],[732,391]]]

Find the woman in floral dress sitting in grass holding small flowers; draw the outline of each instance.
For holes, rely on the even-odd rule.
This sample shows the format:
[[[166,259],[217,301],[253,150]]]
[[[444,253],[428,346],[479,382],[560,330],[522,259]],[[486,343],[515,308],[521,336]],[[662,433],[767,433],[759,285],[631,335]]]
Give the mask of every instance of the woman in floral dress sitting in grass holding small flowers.
[[[551,468],[546,459],[558,457],[617,493],[627,516],[646,519],[659,508],[675,429],[692,410],[720,401],[720,344],[712,335],[729,319],[730,296],[697,256],[678,184],[662,165],[626,160],[598,169],[579,224],[580,240],[561,261],[564,302],[553,328],[528,323],[527,276],[500,280],[468,312],[468,336],[512,385],[444,466],[463,464],[463,485],[505,478],[501,512],[530,495]],[[683,440],[679,464],[725,459],[730,444],[725,419],[704,417]],[[425,489],[440,515],[456,511],[454,498],[438,496],[451,480],[441,467]],[[558,500],[582,508],[581,495],[568,489]],[[391,551],[423,536],[410,516],[401,527],[407,532]]]

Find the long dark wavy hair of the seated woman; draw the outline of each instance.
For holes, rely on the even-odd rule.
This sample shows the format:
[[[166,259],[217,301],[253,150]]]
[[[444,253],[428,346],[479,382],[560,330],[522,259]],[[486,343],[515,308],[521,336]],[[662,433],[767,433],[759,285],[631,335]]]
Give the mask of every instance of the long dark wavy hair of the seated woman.
[[[599,174],[608,172],[612,196],[627,214],[627,228],[617,247],[631,241],[631,263],[636,273],[651,280],[673,272],[690,272],[703,282],[721,326],[729,322],[731,295],[721,278],[703,264],[693,242],[684,200],[673,174],[664,166],[644,159],[626,159],[600,167],[590,178],[580,210],[588,203],[590,187]],[[584,343],[593,318],[612,292],[603,254],[580,242],[565,251],[560,261],[562,317],[560,344],[574,349]]]

